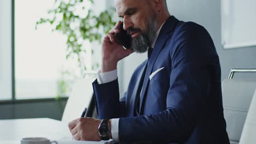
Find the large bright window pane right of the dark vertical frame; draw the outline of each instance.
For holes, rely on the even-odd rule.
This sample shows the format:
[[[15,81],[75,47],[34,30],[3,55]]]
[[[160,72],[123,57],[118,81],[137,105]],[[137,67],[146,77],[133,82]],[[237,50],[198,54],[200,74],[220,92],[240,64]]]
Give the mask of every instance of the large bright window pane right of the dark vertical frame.
[[[77,63],[66,61],[65,35],[52,32],[50,24],[35,29],[54,1],[15,1],[16,99],[55,98],[70,91],[66,71],[75,73]],[[86,62],[91,63],[90,56]]]

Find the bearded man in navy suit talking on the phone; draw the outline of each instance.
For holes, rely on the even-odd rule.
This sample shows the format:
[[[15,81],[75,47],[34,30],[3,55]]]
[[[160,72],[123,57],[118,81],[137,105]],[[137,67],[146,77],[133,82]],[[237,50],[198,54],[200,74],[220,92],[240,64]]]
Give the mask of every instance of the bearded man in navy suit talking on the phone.
[[[131,49],[104,37],[102,64],[93,84],[99,119],[69,123],[75,140],[120,143],[229,143],[223,116],[220,64],[210,34],[171,16],[164,0],[116,0]],[[119,100],[117,63],[148,52]],[[102,119],[102,120],[101,120]]]

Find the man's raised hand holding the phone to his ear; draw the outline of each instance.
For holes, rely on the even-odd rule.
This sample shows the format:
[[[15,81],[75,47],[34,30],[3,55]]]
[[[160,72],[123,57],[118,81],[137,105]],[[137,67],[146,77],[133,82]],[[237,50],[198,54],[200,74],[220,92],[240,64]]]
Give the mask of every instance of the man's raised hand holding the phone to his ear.
[[[121,21],[118,21],[103,39],[101,73],[117,69],[118,61],[133,52],[132,49],[125,50],[123,46],[115,42],[114,34],[119,33],[118,27],[120,24]]]

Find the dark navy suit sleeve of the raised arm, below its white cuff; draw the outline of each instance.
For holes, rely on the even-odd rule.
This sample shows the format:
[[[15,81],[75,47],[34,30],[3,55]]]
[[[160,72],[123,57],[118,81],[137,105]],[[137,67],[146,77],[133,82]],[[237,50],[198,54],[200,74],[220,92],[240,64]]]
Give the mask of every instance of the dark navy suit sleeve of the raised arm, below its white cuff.
[[[99,119],[119,118],[125,115],[125,98],[119,100],[118,79],[103,84],[97,80],[92,83],[95,93],[96,109]]]

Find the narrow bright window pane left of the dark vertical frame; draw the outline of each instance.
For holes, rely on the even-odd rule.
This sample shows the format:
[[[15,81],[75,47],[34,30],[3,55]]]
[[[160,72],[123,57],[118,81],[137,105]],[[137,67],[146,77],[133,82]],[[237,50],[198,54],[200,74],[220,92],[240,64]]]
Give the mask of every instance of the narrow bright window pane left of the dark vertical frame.
[[[0,1],[0,100],[11,99],[11,1]]]

